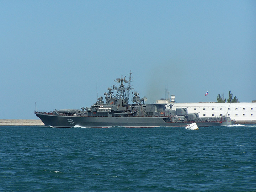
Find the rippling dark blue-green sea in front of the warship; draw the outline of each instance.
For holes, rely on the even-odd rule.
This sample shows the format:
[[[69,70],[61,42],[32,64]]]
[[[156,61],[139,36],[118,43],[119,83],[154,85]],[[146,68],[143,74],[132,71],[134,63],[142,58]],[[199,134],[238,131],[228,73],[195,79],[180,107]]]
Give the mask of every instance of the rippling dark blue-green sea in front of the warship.
[[[0,126],[0,191],[256,191],[256,125]]]

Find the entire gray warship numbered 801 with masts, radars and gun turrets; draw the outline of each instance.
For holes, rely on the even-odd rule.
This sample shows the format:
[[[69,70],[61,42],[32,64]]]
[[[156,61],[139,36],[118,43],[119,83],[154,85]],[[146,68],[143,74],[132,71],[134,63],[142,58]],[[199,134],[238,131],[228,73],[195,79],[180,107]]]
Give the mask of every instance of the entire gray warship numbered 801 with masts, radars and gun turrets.
[[[140,98],[137,91],[132,92],[132,104],[129,104],[131,72],[127,81],[123,76],[117,78],[118,86],[113,85],[105,92],[105,100],[98,97],[91,107],[81,109],[62,109],[52,112],[34,111],[45,126],[52,127],[186,127],[196,123],[197,126],[228,126],[235,122],[229,117],[201,117],[198,113],[188,113],[187,108],[176,108],[165,104],[145,104],[146,97]],[[125,87],[124,83],[128,83]],[[114,94],[116,92],[116,94]]]

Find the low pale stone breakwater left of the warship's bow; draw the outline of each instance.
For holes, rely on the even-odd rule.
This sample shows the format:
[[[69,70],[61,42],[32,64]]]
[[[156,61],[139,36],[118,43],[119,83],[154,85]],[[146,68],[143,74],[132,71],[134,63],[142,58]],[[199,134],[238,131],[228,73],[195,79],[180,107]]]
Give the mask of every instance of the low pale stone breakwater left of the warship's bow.
[[[0,119],[0,126],[44,126],[40,119]]]

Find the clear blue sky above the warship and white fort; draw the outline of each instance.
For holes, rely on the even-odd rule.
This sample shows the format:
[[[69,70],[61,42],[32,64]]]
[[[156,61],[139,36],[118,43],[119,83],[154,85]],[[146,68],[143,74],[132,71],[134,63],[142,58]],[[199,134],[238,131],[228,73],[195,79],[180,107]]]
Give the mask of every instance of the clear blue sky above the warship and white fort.
[[[3,0],[0,119],[90,107],[130,71],[148,103],[166,89],[176,102],[229,90],[256,100],[255,10],[253,0]]]

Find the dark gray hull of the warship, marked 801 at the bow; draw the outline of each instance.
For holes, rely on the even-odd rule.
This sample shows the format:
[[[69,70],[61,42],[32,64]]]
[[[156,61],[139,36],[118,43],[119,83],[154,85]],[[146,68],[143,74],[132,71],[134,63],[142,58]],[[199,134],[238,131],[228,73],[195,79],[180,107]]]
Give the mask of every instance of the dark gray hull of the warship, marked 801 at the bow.
[[[169,117],[77,117],[35,112],[46,126],[53,127],[185,127],[192,122],[168,122]],[[197,126],[226,126],[234,121],[196,122]]]

